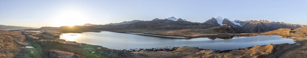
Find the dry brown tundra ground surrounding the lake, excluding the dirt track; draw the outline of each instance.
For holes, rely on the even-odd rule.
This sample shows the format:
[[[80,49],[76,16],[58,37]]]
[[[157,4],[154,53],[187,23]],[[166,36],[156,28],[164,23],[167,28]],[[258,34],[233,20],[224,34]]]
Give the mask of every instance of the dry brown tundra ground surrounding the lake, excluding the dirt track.
[[[127,30],[128,31],[128,30]],[[146,31],[146,30],[145,30]],[[191,33],[190,35],[182,34]],[[196,32],[196,33],[194,33]],[[208,35],[212,32],[206,29],[186,29],[178,31],[161,31],[152,34],[171,34],[173,36],[185,35],[189,37]],[[102,46],[83,44],[59,39],[59,31],[44,31],[26,33],[51,58],[116,58],[116,57],[195,57],[195,58],[269,58],[281,56],[285,58],[306,58],[307,27],[298,29],[278,29],[262,33],[229,33],[231,35],[280,35],[295,40],[299,44],[268,44],[256,45],[253,48],[239,48],[236,51],[206,50],[197,47],[181,47],[174,51],[136,51],[127,52],[109,49]],[[139,30],[142,33],[142,30]],[[150,33],[150,32],[143,32]],[[212,32],[215,33],[215,32]],[[0,58],[40,58],[35,48],[31,46],[21,31],[0,31]],[[211,33],[210,33],[211,34]],[[212,35],[208,36],[212,36]],[[222,33],[227,34],[227,33]],[[213,35],[219,35],[213,34]],[[291,38],[296,37],[296,38]],[[303,38],[300,38],[303,37]],[[32,53],[33,52],[33,53]]]

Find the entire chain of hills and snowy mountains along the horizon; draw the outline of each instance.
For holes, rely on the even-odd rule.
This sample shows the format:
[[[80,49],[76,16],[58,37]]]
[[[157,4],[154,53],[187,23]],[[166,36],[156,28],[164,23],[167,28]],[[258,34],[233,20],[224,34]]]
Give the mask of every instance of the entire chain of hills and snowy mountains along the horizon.
[[[76,31],[91,31],[91,30],[125,30],[125,29],[170,29],[170,30],[182,30],[182,29],[207,29],[214,32],[220,33],[250,33],[250,32],[267,32],[272,30],[277,30],[281,28],[297,29],[305,27],[307,25],[301,24],[287,24],[284,22],[275,22],[267,20],[247,20],[239,21],[234,20],[230,21],[227,18],[223,17],[212,17],[211,19],[203,22],[190,22],[185,19],[168,17],[165,19],[155,18],[151,21],[124,21],[121,23],[110,23],[106,25],[93,25],[93,24],[84,24],[77,26],[79,29]],[[68,26],[63,27],[42,27],[36,30],[65,30],[67,31]],[[20,28],[28,29],[28,28]]]

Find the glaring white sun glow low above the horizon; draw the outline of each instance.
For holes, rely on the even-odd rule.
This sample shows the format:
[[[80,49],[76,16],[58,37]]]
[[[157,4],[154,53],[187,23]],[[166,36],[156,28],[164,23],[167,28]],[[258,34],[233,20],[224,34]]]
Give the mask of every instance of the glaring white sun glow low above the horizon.
[[[85,11],[79,9],[63,9],[53,16],[54,26],[73,26],[86,24],[91,17]]]

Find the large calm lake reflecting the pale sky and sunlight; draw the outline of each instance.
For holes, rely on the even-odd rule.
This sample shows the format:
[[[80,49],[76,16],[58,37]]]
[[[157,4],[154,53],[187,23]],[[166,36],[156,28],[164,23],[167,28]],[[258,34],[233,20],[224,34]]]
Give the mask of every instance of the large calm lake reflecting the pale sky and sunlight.
[[[100,33],[86,32],[86,33],[63,33],[60,39],[66,41],[76,41],[78,43],[100,45],[111,49],[132,49],[132,48],[156,48],[165,46],[189,46],[203,49],[228,50],[235,48],[246,48],[255,45],[263,44],[293,44],[292,39],[282,38],[281,36],[235,36],[231,39],[220,38],[185,38],[174,37],[165,38],[168,36],[150,37],[143,35],[136,35],[143,33],[115,33],[102,31]],[[155,36],[155,35],[153,35]]]

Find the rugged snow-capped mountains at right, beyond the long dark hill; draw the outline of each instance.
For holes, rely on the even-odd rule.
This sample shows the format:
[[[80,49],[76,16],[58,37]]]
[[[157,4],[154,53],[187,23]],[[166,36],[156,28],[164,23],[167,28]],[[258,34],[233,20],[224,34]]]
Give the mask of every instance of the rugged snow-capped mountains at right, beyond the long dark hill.
[[[215,17],[215,18],[212,17],[211,19],[205,21],[204,23],[210,25],[227,24],[249,32],[266,32],[266,31],[277,30],[280,28],[297,29],[307,26],[301,24],[287,24],[284,22],[274,22],[274,21],[270,22],[267,20],[229,21],[227,18],[223,17]]]

